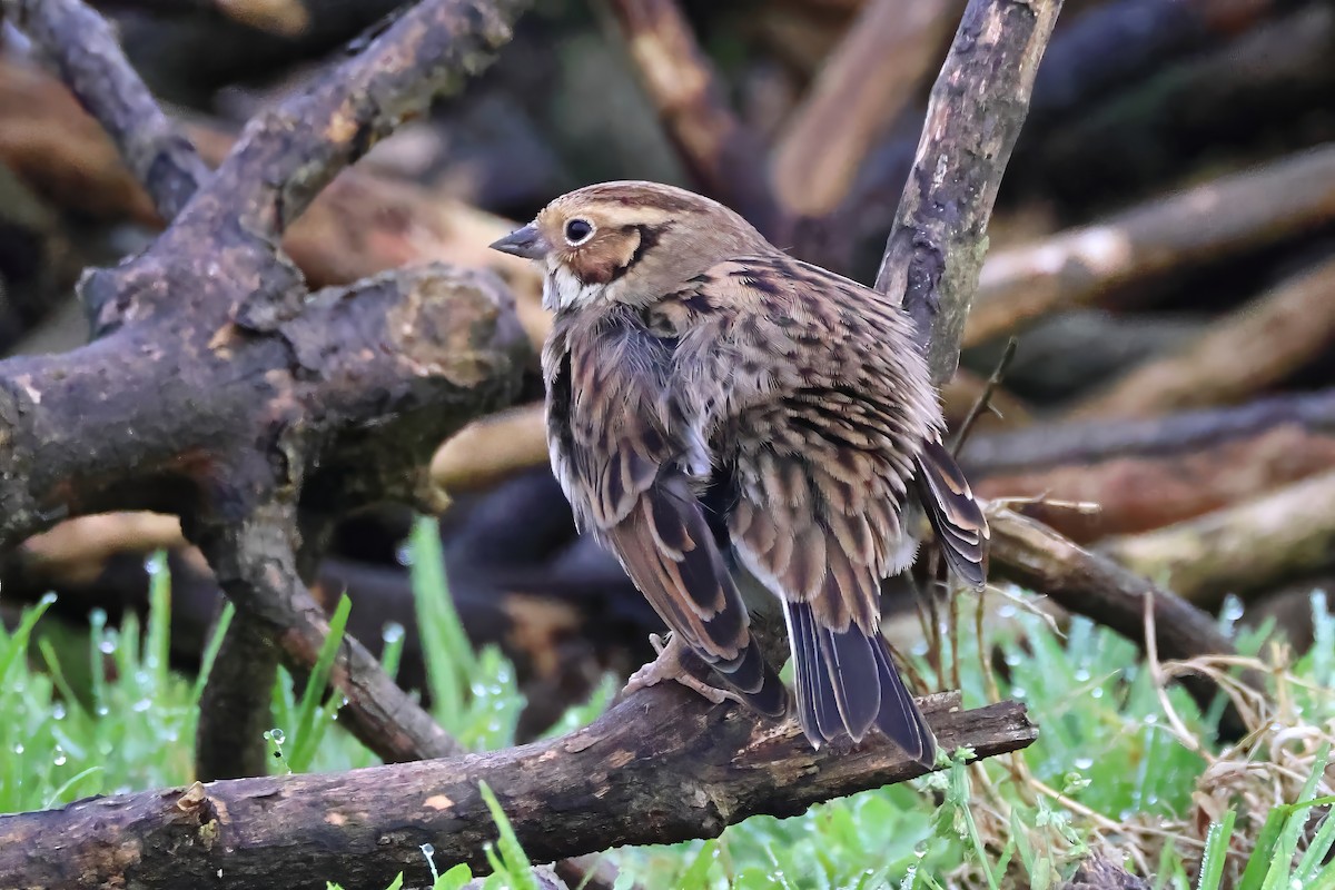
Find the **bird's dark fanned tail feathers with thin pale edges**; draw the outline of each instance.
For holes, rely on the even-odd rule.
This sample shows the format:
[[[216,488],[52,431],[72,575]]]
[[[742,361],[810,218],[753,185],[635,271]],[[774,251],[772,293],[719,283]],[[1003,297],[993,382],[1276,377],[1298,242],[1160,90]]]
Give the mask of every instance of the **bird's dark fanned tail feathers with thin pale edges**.
[[[797,713],[813,746],[849,735],[861,742],[874,723],[913,759],[930,765],[932,733],[904,686],[880,632],[821,627],[809,603],[785,603],[797,677]]]

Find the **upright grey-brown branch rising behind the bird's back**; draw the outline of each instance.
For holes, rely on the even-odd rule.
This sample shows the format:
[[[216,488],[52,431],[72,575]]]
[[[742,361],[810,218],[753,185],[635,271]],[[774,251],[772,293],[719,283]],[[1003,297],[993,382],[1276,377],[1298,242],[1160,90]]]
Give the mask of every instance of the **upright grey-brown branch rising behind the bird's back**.
[[[937,384],[959,366],[988,219],[1060,9],[1061,0],[969,3],[932,88],[876,290],[902,299]]]

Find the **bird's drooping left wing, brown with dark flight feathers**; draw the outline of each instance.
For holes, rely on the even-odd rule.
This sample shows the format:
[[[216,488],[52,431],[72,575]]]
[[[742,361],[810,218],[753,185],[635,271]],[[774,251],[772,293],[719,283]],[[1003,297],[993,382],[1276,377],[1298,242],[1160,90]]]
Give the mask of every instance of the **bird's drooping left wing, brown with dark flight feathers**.
[[[786,693],[694,494],[704,443],[663,387],[668,347],[633,326],[570,338],[551,355],[547,435],[581,526],[606,543],[673,632],[757,710]]]

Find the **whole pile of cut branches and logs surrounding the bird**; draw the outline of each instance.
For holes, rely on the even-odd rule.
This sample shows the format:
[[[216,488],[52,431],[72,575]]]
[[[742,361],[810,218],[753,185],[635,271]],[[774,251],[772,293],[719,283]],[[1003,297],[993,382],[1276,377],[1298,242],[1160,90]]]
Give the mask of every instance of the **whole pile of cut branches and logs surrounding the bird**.
[[[92,5],[3,5],[0,583],[142,611],[166,548],[187,670],[226,596],[196,765],[220,781],[0,817],[0,883],[383,886],[425,842],[486,867],[481,781],[573,874],[918,773],[665,687],[469,754],[405,693],[414,512],[473,640],[519,667],[526,738],[659,630],[574,535],[539,282],[486,251],[586,181],[690,185],[901,298],[993,499],[996,582],[1185,659],[1232,651],[1227,594],[1274,610],[1335,574],[1335,125],[1303,113],[1335,85],[1326,4]],[[340,725],[387,766],[266,777],[252,691],[310,671],[343,590]],[[1016,703],[926,707],[977,757],[1036,737]]]

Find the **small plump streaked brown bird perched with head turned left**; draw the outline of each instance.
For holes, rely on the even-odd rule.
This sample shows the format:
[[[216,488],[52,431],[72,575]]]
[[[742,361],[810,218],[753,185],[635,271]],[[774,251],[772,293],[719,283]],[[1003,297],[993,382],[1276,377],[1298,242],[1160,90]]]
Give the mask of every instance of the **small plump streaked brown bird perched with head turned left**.
[[[781,717],[752,632],[782,610],[810,742],[876,725],[934,741],[880,632],[880,580],[921,511],[947,564],[984,583],[987,522],[949,451],[912,320],[770,246],[726,207],[654,183],[590,185],[491,244],[546,268],[547,443],[582,532],[672,628],[630,689],[681,679],[681,647]]]

